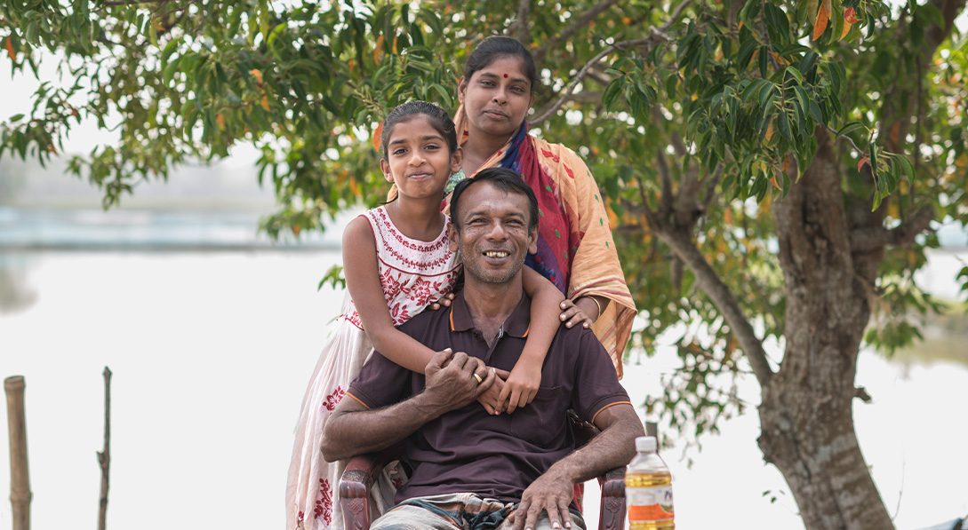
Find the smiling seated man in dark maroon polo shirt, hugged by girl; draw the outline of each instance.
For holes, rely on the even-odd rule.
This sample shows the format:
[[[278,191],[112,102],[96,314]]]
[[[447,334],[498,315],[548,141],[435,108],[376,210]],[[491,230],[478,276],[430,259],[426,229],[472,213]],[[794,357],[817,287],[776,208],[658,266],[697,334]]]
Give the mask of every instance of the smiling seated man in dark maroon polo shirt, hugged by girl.
[[[494,368],[514,367],[528,335],[521,268],[536,249],[537,200],[514,171],[485,169],[458,184],[450,213],[464,289],[449,309],[400,327],[439,353],[424,375],[374,353],[326,423],[322,455],[333,461],[406,440],[412,474],[375,529],[584,528],[569,510],[574,485],[628,463],[642,424],[582,326],[560,327],[527,406],[492,416],[475,402],[494,384]],[[569,408],[601,430],[578,451]]]

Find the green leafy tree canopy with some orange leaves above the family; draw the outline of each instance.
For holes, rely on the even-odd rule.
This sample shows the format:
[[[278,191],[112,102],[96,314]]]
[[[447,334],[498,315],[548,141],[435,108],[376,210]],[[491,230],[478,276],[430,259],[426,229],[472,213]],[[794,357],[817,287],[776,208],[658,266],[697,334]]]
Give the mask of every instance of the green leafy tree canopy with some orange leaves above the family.
[[[410,99],[455,108],[472,46],[506,33],[539,65],[530,127],[585,157],[609,199],[646,323],[637,340],[648,347],[686,324],[682,372],[651,403],[674,425],[714,428],[741,407],[730,374],[781,363],[749,360],[695,264],[757,322],[761,350],[782,344],[771,211],[815,163],[822,136],[858,245],[887,252],[870,285],[880,325],[867,339],[890,349],[917,335],[909,311],[934,304],[912,281],[937,245],[928,221],[968,221],[968,44],[953,30],[963,1],[475,5],[9,2],[0,40],[15,70],[57,61],[71,82],[42,83],[34,108],[4,123],[0,156],[46,162],[94,120],[117,141],[69,167],[110,207],[140,179],[252,144],[280,205],[264,229],[298,235],[324,214],[378,203],[385,183],[370,136],[386,109]]]

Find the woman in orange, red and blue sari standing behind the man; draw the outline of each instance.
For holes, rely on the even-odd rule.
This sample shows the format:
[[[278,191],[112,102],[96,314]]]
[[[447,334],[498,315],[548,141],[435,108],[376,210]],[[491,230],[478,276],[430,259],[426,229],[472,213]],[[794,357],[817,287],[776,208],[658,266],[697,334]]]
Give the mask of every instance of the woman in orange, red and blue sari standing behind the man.
[[[538,251],[526,263],[595,320],[592,330],[621,376],[635,304],[588,166],[567,147],[528,133],[525,118],[536,83],[534,59],[523,44],[489,37],[477,45],[457,89],[461,106],[454,122],[464,148],[462,172],[473,177],[501,166],[524,176],[540,208]]]

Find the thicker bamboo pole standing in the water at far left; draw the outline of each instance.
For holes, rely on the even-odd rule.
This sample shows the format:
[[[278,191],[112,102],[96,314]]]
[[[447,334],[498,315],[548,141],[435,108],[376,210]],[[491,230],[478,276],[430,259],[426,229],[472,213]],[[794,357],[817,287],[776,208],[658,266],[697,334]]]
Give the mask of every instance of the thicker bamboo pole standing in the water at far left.
[[[7,423],[10,427],[10,503],[14,530],[30,530],[30,472],[27,468],[27,420],[23,412],[22,375],[4,379],[7,392]]]

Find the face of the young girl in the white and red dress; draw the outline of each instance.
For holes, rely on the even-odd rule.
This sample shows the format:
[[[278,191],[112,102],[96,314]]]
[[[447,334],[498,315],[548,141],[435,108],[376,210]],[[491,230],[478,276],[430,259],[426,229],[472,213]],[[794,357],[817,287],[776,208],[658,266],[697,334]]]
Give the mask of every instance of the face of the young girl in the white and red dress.
[[[417,114],[393,126],[379,167],[401,196],[442,199],[450,174],[461,168],[461,153],[450,153],[443,134]]]

